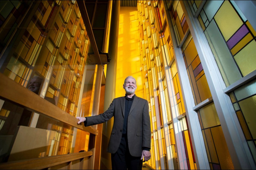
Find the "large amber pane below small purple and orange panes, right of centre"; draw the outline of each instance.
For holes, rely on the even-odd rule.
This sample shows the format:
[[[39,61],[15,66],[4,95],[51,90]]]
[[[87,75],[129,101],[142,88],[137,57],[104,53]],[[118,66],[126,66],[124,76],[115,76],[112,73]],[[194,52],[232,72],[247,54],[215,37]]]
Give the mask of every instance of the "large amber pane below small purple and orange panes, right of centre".
[[[200,79],[197,80],[197,87],[201,97],[201,101],[204,101],[209,97],[211,97],[210,88],[208,86],[205,74]]]

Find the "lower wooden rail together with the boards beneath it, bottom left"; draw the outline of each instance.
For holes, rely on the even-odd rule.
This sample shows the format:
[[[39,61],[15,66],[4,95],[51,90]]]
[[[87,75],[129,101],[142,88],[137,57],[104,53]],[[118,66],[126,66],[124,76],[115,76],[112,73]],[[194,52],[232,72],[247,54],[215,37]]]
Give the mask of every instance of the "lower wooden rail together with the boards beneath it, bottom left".
[[[48,156],[0,164],[0,169],[89,169],[93,152]]]

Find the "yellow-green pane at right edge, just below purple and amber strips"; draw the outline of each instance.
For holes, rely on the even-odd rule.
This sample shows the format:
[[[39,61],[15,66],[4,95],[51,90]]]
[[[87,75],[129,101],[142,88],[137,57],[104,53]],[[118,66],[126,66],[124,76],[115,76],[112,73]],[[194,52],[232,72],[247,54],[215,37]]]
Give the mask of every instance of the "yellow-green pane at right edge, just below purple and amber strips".
[[[234,56],[243,76],[251,73],[256,68],[256,41],[251,41],[239,53]]]

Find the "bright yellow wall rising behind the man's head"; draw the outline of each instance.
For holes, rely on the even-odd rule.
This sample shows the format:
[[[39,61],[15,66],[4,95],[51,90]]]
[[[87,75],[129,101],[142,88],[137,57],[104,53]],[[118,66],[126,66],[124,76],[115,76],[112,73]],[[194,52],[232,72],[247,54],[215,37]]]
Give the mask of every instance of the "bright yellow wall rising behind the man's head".
[[[136,7],[120,7],[115,97],[125,95],[123,82],[127,76],[137,81],[136,95],[143,98],[139,57],[139,27]]]

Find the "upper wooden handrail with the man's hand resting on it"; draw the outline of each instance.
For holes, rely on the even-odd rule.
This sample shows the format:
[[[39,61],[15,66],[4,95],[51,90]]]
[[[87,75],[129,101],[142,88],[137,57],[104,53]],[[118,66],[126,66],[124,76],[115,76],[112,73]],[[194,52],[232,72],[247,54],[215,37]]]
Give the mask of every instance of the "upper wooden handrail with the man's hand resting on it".
[[[85,127],[82,124],[77,124],[78,119],[63,111],[59,107],[49,101],[38,96],[34,92],[21,86],[10,78],[0,73],[0,96],[20,105],[23,105],[35,112],[45,114],[63,123],[74,126],[78,129],[98,135],[98,130],[92,127]]]

